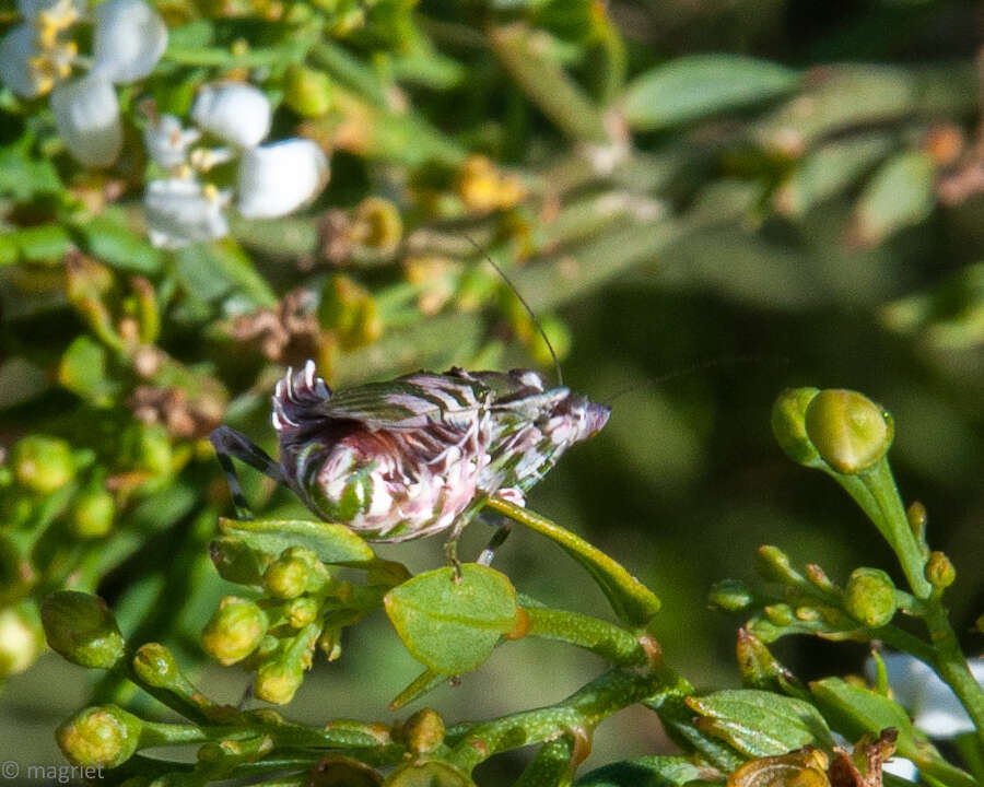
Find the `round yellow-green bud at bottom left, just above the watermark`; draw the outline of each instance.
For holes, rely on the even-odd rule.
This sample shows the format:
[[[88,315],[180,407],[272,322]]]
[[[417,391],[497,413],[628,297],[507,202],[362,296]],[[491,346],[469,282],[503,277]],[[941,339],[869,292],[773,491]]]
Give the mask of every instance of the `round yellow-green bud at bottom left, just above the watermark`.
[[[143,723],[116,705],[85,708],[55,733],[75,765],[118,767],[137,752]]]

